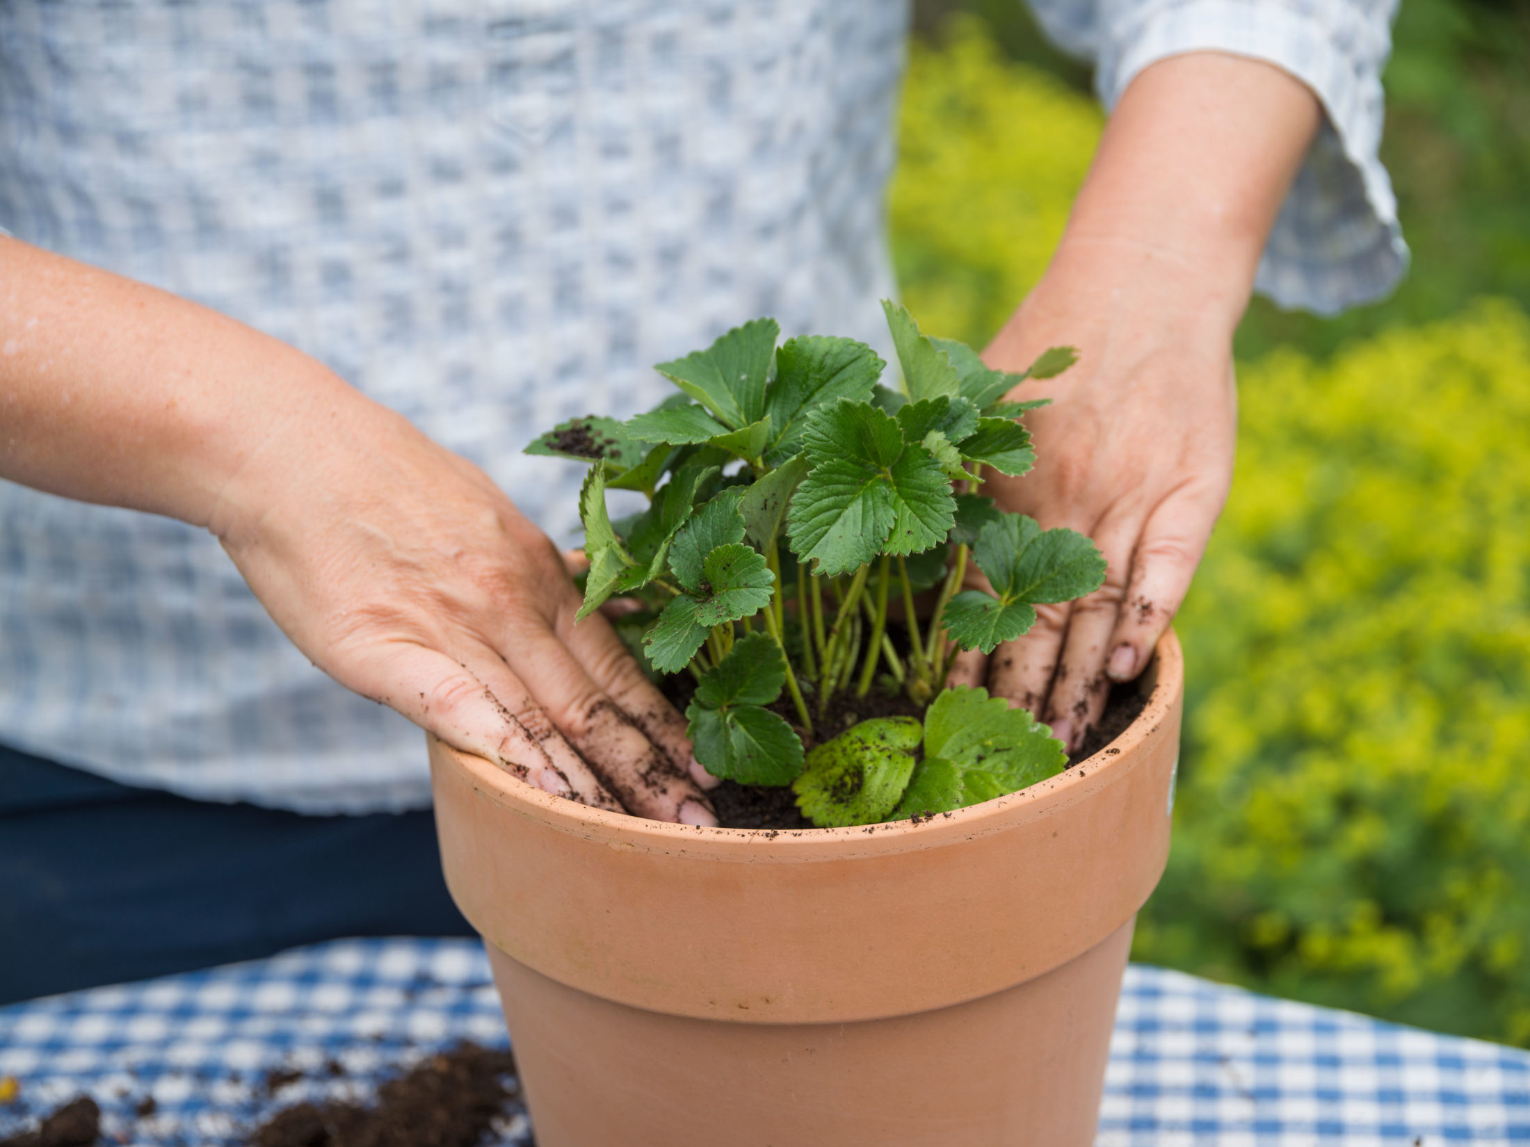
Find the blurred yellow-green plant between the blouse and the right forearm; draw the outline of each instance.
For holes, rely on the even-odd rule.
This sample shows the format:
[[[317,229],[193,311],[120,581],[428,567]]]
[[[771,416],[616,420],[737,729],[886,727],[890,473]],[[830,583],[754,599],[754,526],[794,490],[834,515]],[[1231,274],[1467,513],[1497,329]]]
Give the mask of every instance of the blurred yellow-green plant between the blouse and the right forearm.
[[[909,52],[889,196],[898,283],[926,330],[982,347],[1047,269],[1103,116],[1007,63],[973,18]]]

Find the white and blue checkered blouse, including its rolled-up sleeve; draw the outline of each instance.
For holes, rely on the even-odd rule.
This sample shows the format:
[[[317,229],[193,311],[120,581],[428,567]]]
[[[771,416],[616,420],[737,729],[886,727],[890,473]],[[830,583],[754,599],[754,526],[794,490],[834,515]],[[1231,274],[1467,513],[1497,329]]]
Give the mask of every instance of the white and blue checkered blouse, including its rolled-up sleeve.
[[[1375,159],[1389,0],[1045,0],[1112,99],[1219,47],[1323,98],[1261,269],[1403,271]],[[880,343],[895,0],[6,0],[0,226],[217,307],[480,463],[555,538],[554,422],[754,315]],[[422,807],[419,734],[294,650],[217,543],[0,483],[0,742],[304,812]]]

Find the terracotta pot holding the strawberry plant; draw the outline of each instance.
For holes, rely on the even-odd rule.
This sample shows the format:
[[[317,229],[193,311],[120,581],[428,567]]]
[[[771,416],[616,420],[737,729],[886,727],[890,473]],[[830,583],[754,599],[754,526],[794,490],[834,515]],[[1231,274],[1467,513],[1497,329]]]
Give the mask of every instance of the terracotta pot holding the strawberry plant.
[[[623,817],[430,745],[540,1147],[1086,1147],[1163,873],[1183,662],[1053,780],[913,824]]]

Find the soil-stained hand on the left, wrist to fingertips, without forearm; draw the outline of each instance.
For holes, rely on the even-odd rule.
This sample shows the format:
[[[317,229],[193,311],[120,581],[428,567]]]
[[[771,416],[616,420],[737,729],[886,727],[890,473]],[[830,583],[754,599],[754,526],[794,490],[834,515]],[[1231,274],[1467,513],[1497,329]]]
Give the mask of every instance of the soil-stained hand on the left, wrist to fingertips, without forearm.
[[[716,823],[685,720],[604,616],[574,622],[563,554],[402,418],[335,392],[246,460],[208,525],[343,685],[549,792]]]

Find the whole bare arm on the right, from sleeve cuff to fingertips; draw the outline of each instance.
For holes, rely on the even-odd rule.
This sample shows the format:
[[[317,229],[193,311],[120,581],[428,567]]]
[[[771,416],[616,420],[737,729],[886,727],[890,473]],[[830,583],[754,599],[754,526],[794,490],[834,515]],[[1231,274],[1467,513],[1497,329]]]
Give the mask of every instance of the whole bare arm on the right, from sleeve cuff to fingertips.
[[[990,659],[962,655],[952,681],[987,681],[1069,749],[1109,684],[1148,664],[1227,497],[1232,336],[1317,119],[1308,89],[1255,60],[1196,52],[1144,69],[1047,275],[984,353],[1019,372],[1050,346],[1079,349],[1073,370],[1014,395],[1053,398],[1027,414],[1036,470],[985,491],[1092,537],[1108,572]]]

